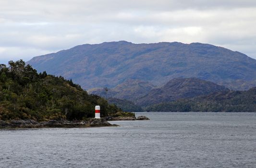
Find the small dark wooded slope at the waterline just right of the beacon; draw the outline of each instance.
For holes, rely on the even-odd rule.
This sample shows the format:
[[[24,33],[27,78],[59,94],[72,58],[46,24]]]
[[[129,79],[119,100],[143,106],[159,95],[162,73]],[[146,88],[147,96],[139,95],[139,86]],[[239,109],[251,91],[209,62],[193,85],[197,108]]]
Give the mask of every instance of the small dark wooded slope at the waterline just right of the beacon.
[[[110,97],[108,98],[108,103],[116,105],[117,107],[121,108],[123,111],[129,111],[129,112],[144,111],[140,106],[135,105],[132,101],[129,101],[129,100],[122,100],[122,99]]]

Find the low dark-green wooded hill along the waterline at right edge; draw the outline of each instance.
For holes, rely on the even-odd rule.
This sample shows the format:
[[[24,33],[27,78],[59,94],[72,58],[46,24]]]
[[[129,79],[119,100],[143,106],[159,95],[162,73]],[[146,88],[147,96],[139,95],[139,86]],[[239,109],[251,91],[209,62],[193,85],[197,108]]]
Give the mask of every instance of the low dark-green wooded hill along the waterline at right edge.
[[[146,111],[256,112],[256,87],[247,91],[215,92],[207,96],[159,103]]]

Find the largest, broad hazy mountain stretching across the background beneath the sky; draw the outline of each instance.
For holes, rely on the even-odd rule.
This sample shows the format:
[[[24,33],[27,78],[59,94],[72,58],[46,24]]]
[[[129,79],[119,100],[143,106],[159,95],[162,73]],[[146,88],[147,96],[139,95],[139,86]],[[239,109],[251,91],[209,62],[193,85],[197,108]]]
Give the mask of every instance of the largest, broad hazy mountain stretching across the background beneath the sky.
[[[127,79],[162,85],[179,77],[196,77],[231,89],[256,86],[252,82],[256,81],[256,60],[237,51],[201,43],[85,44],[34,57],[27,63],[38,72],[72,78],[84,89],[112,88]]]

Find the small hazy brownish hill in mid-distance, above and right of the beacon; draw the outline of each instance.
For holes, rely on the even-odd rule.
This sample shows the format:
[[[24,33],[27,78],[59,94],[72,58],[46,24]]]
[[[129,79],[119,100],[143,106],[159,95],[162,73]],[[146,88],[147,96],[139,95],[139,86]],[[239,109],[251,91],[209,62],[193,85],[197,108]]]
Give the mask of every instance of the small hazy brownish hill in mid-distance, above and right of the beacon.
[[[89,89],[88,93],[106,98],[115,97],[135,101],[137,98],[145,96],[154,87],[149,82],[128,79],[114,88],[93,88]]]

